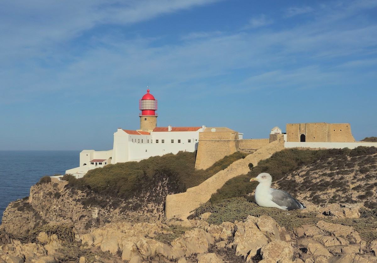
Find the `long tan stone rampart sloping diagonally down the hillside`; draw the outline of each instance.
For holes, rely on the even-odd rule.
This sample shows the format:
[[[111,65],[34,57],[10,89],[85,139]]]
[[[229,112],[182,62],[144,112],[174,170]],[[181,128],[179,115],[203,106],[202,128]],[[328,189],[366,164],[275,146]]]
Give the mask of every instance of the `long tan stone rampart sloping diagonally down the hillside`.
[[[165,216],[168,219],[175,217],[187,220],[190,213],[201,203],[207,202],[211,198],[211,195],[216,193],[225,182],[235,176],[248,173],[250,171],[248,168],[249,163],[256,166],[259,161],[269,158],[277,151],[283,150],[284,135],[278,137],[276,141],[249,154],[245,159],[234,162],[228,168],[219,171],[200,185],[187,189],[185,193],[168,195],[166,197]]]

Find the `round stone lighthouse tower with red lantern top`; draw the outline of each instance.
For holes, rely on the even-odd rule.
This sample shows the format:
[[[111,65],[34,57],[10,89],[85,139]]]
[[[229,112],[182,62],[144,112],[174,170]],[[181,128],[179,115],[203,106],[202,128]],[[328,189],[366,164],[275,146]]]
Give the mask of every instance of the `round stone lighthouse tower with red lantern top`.
[[[139,101],[140,116],[140,130],[152,131],[157,126],[157,99],[149,93],[143,96]]]

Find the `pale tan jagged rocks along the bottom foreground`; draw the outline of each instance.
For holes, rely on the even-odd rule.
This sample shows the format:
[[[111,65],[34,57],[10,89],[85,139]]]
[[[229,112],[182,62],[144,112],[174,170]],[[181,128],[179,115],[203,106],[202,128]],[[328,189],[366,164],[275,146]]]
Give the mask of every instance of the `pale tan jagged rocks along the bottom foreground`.
[[[344,208],[332,206],[331,214],[344,215]],[[319,218],[336,219],[320,213],[329,208],[311,209]],[[0,263],[53,263],[67,257],[74,262],[377,262],[377,240],[367,243],[351,226],[320,219],[293,232],[271,217],[248,216],[221,225],[176,219],[111,222],[77,233],[76,243],[69,244],[46,232],[40,232],[34,243],[21,243],[4,233],[2,237]],[[69,255],[67,247],[75,254]]]

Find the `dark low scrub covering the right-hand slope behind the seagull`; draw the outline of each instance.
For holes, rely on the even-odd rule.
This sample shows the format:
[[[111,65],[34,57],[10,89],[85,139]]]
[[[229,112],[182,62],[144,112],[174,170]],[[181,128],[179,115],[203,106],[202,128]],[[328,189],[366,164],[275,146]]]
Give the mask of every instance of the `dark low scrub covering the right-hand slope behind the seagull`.
[[[218,203],[221,200],[232,197],[250,198],[249,193],[252,193],[256,188],[257,183],[250,182],[251,177],[256,177],[259,173],[267,172],[273,177],[273,181],[279,181],[279,188],[282,188],[290,193],[297,193],[306,191],[312,193],[310,200],[315,203],[325,203],[321,195],[322,191],[331,188],[336,188],[337,193],[332,197],[333,202],[359,202],[365,197],[371,197],[374,193],[372,191],[377,187],[371,179],[375,177],[371,171],[375,170],[377,163],[377,148],[360,146],[353,150],[344,149],[326,149],[326,150],[300,150],[297,148],[285,149],[274,153],[269,159],[260,161],[257,166],[247,173],[234,177],[224,184],[217,193],[213,194],[210,202]],[[297,174],[303,167],[310,167],[305,170],[305,173]],[[352,169],[358,168],[357,171]],[[323,173],[322,171],[328,171]],[[296,173],[297,177],[288,179],[287,175]],[[314,180],[312,176],[315,173],[321,173],[320,180]],[[352,179],[365,182],[363,189],[368,188],[363,196],[358,199],[351,199],[351,196],[346,194],[349,190],[349,184],[346,177],[349,174],[355,174]],[[300,177],[303,179],[302,183],[297,183],[296,179]],[[366,182],[369,180],[369,183]],[[336,196],[336,194],[338,196]],[[331,201],[331,200],[330,200]],[[366,201],[366,205],[368,205]],[[376,206],[375,206],[376,205]],[[370,202],[370,208],[377,208],[377,203]]]

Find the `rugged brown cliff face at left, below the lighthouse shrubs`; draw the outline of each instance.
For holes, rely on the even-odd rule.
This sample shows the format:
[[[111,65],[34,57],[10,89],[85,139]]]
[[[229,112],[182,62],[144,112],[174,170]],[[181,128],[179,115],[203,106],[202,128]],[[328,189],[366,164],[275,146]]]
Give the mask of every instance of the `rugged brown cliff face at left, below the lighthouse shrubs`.
[[[66,181],[33,185],[29,197],[8,205],[2,226],[14,237],[28,235],[33,229],[46,224],[74,225],[81,234],[109,222],[137,221],[144,214],[148,214],[148,219],[151,216],[163,217],[164,199],[171,193],[166,181],[159,178],[155,185],[159,188],[154,196],[151,196],[152,190],[142,189],[138,200],[133,196],[122,200],[104,197],[87,189],[67,188]]]

